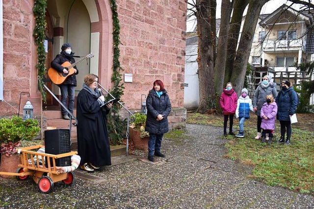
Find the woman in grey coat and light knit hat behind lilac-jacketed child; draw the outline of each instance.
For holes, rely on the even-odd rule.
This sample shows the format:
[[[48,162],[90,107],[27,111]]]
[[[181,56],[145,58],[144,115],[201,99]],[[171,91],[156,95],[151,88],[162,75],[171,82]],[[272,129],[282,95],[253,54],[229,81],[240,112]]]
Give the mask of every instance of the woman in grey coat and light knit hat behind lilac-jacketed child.
[[[272,77],[270,75],[265,75],[263,81],[259,83],[259,86],[255,90],[254,100],[253,100],[253,110],[255,115],[257,115],[257,136],[255,139],[261,138],[261,109],[263,104],[266,102],[266,95],[272,94],[274,99],[277,97],[276,83],[271,82]]]

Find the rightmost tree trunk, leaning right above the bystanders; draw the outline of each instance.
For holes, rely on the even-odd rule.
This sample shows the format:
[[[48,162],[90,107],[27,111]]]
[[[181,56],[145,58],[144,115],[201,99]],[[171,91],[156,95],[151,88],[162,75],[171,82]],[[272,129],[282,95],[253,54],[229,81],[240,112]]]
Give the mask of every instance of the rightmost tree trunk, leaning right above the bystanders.
[[[246,66],[249,60],[253,36],[262,6],[269,0],[250,0],[249,8],[245,17],[242,34],[238,49],[236,51],[234,68],[230,81],[234,85],[235,92],[239,95],[243,88]]]

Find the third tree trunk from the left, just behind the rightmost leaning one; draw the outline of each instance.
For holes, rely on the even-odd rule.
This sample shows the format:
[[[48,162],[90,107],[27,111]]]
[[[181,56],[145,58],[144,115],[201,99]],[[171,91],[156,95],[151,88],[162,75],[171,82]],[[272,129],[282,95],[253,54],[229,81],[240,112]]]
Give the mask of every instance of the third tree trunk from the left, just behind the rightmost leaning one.
[[[243,12],[249,3],[249,0],[235,0],[234,12],[230,23],[230,29],[228,34],[228,47],[227,47],[227,59],[225,66],[225,78],[224,84],[230,82],[232,69],[235,62],[236,46],[239,38],[241,22],[243,18]],[[221,88],[222,89],[222,88]],[[220,91],[220,92],[219,92]],[[222,90],[216,91],[222,93]]]

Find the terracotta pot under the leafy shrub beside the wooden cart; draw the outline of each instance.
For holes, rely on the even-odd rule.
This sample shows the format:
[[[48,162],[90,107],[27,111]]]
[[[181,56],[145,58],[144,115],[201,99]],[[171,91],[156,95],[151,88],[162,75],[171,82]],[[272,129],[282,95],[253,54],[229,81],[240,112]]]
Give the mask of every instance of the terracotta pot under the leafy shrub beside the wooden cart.
[[[1,163],[0,163],[0,172],[15,173],[19,167],[19,164],[21,164],[20,155],[13,154],[10,157],[7,157],[5,154],[2,154]],[[16,178],[15,176],[9,176],[9,175],[0,175],[0,176],[6,179]]]

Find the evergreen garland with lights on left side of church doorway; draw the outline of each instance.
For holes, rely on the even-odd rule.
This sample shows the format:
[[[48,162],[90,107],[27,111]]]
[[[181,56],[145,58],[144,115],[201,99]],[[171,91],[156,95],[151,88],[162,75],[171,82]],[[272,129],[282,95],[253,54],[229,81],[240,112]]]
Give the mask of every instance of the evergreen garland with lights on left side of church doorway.
[[[33,35],[35,37],[35,44],[37,45],[37,65],[38,70],[38,89],[42,94],[44,100],[46,100],[46,92],[44,91],[45,70],[46,70],[46,52],[45,52],[45,30],[46,30],[46,14],[47,1],[35,0],[33,13],[35,16],[35,28]]]

